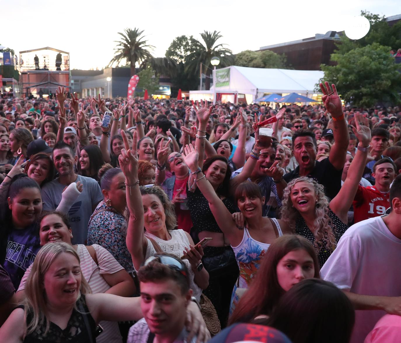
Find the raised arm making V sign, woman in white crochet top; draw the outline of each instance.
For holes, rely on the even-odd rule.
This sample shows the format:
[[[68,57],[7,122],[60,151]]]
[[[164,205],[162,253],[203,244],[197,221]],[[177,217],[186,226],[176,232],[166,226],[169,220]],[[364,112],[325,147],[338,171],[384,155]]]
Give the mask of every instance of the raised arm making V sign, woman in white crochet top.
[[[132,263],[134,263],[135,269],[138,270],[145,259],[146,247],[148,246],[148,241],[144,235],[144,207],[141,191],[139,189],[138,158],[136,156],[136,150],[130,150],[126,133],[122,131],[121,135],[124,140],[125,148],[121,150],[118,161],[126,177],[127,207],[128,211],[130,211],[126,244],[131,254]],[[137,135],[138,134],[134,132],[132,146],[138,144]]]

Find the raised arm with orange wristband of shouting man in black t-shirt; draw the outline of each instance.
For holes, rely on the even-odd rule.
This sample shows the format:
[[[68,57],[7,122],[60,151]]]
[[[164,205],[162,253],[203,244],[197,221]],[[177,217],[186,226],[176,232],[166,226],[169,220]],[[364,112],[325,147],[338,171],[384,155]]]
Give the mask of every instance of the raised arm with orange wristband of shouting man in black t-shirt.
[[[323,96],[322,101],[327,110],[331,113],[334,121],[333,136],[334,144],[330,150],[329,160],[330,163],[340,170],[344,167],[347,148],[349,145],[350,136],[348,134],[348,127],[342,113],[342,103],[340,96],[338,96],[335,84],[332,84],[333,91],[331,92],[328,82],[324,82],[326,86],[320,83],[320,89]],[[328,95],[330,94],[330,95]]]

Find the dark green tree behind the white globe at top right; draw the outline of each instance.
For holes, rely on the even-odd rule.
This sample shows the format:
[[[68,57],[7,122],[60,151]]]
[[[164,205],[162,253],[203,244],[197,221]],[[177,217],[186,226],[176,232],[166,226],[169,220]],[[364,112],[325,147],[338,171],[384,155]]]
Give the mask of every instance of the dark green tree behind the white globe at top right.
[[[358,40],[350,40],[345,34],[341,36],[341,40],[336,43],[336,53],[345,54],[348,51],[367,46],[373,43],[379,43],[383,46],[389,46],[389,50],[397,50],[401,47],[401,21],[390,26],[384,16],[372,14],[370,12],[361,11],[361,16],[366,17],[371,23],[368,34]]]

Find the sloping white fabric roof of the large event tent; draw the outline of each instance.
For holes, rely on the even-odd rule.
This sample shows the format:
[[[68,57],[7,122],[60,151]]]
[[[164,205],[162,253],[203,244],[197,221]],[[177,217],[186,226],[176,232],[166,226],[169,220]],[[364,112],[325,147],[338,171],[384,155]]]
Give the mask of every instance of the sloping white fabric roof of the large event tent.
[[[315,85],[324,76],[321,70],[291,70],[275,68],[248,68],[231,66],[243,74],[255,88],[272,93],[313,93]]]

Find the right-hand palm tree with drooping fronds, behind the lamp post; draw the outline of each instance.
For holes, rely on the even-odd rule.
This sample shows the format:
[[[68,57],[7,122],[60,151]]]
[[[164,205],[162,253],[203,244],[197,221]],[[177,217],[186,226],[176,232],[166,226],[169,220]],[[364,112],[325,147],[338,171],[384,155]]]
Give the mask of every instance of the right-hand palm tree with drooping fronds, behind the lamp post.
[[[209,74],[209,77],[206,78],[206,89],[210,88],[210,79],[212,74],[212,69],[210,60],[212,57],[220,58],[220,66],[226,67],[231,65],[233,62],[233,52],[230,49],[224,48],[224,45],[227,44],[216,44],[217,40],[222,38],[223,36],[220,32],[209,32],[204,31],[201,33],[201,37],[203,39],[203,44],[197,41],[196,51],[189,54],[186,58],[185,62],[185,71],[198,74],[200,70],[201,63],[205,64],[205,74]]]

